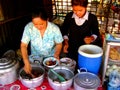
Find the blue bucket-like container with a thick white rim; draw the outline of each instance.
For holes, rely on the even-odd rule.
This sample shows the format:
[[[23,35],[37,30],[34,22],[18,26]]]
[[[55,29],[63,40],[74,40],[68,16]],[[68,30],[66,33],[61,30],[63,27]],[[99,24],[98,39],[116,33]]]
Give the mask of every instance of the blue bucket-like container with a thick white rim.
[[[87,71],[98,74],[102,62],[103,50],[92,44],[82,45],[78,49],[78,68],[86,68]]]

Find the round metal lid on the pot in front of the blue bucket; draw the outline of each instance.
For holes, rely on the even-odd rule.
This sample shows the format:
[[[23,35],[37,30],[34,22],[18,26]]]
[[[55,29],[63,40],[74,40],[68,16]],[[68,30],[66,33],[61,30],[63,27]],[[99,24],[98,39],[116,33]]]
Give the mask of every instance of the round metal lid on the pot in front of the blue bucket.
[[[100,79],[95,74],[89,72],[81,72],[75,76],[74,83],[86,89],[95,89],[99,87]]]

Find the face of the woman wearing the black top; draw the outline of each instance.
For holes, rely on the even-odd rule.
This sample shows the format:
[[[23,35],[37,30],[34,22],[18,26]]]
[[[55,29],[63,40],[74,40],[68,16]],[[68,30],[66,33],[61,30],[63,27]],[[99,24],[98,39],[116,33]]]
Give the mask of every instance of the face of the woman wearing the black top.
[[[86,13],[86,8],[83,6],[73,6],[73,12],[79,17],[82,18]]]

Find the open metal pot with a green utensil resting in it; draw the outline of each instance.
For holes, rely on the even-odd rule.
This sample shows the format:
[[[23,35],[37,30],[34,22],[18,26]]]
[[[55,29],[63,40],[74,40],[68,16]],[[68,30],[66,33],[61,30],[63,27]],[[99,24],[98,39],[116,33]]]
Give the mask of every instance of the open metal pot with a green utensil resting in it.
[[[51,70],[48,71],[48,82],[50,86],[54,90],[67,90],[72,86],[73,83],[73,77],[74,73],[71,71],[68,67],[65,66],[56,66],[53,68],[55,72],[63,76],[66,81],[59,82],[57,76],[51,72]]]

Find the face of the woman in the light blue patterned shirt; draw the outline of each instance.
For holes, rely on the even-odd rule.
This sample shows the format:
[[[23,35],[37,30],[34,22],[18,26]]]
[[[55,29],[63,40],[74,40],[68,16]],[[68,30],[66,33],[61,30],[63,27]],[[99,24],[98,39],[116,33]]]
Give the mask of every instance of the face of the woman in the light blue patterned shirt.
[[[47,27],[47,21],[46,20],[42,20],[39,17],[33,18],[32,22],[34,24],[34,26],[38,29],[38,30],[45,30]]]

